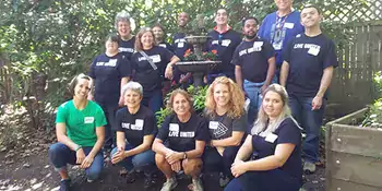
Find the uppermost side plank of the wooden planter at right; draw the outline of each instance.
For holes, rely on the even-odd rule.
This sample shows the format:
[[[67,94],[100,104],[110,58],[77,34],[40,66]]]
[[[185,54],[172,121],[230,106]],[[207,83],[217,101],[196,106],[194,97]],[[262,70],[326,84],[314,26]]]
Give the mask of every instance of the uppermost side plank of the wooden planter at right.
[[[382,158],[382,131],[332,123],[329,150],[362,156]]]

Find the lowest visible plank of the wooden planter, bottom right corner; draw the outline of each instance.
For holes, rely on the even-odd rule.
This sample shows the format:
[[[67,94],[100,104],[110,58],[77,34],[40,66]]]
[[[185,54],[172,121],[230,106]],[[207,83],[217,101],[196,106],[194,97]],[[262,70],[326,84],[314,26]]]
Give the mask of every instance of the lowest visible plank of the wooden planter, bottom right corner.
[[[332,179],[326,181],[331,182],[326,184],[326,191],[382,191],[380,188],[357,184],[345,180]]]

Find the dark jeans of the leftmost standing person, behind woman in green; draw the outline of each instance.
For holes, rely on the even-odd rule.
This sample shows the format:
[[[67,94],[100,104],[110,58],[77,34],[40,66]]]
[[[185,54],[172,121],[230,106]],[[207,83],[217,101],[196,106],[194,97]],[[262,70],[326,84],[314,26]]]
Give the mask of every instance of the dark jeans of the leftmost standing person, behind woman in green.
[[[105,126],[105,143],[104,148],[111,148],[116,145],[116,114],[118,110],[118,105],[97,103],[104,110],[107,124]]]

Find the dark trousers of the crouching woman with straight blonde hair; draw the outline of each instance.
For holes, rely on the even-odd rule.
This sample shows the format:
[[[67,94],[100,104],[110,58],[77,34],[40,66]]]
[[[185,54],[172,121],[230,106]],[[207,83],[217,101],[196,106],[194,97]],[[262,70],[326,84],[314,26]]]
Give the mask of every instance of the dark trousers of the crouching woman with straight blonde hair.
[[[224,191],[298,191],[301,180],[280,169],[248,171],[231,180]]]

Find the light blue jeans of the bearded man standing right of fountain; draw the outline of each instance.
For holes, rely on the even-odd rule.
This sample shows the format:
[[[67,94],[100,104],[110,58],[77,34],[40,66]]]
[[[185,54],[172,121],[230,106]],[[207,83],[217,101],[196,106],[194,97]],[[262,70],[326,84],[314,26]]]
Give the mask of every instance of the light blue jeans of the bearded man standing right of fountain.
[[[251,100],[248,109],[248,123],[253,124],[254,120],[258,118],[259,108],[263,102],[263,96],[261,95],[260,88],[264,85],[264,82],[253,83],[244,80],[244,91],[248,98]]]

